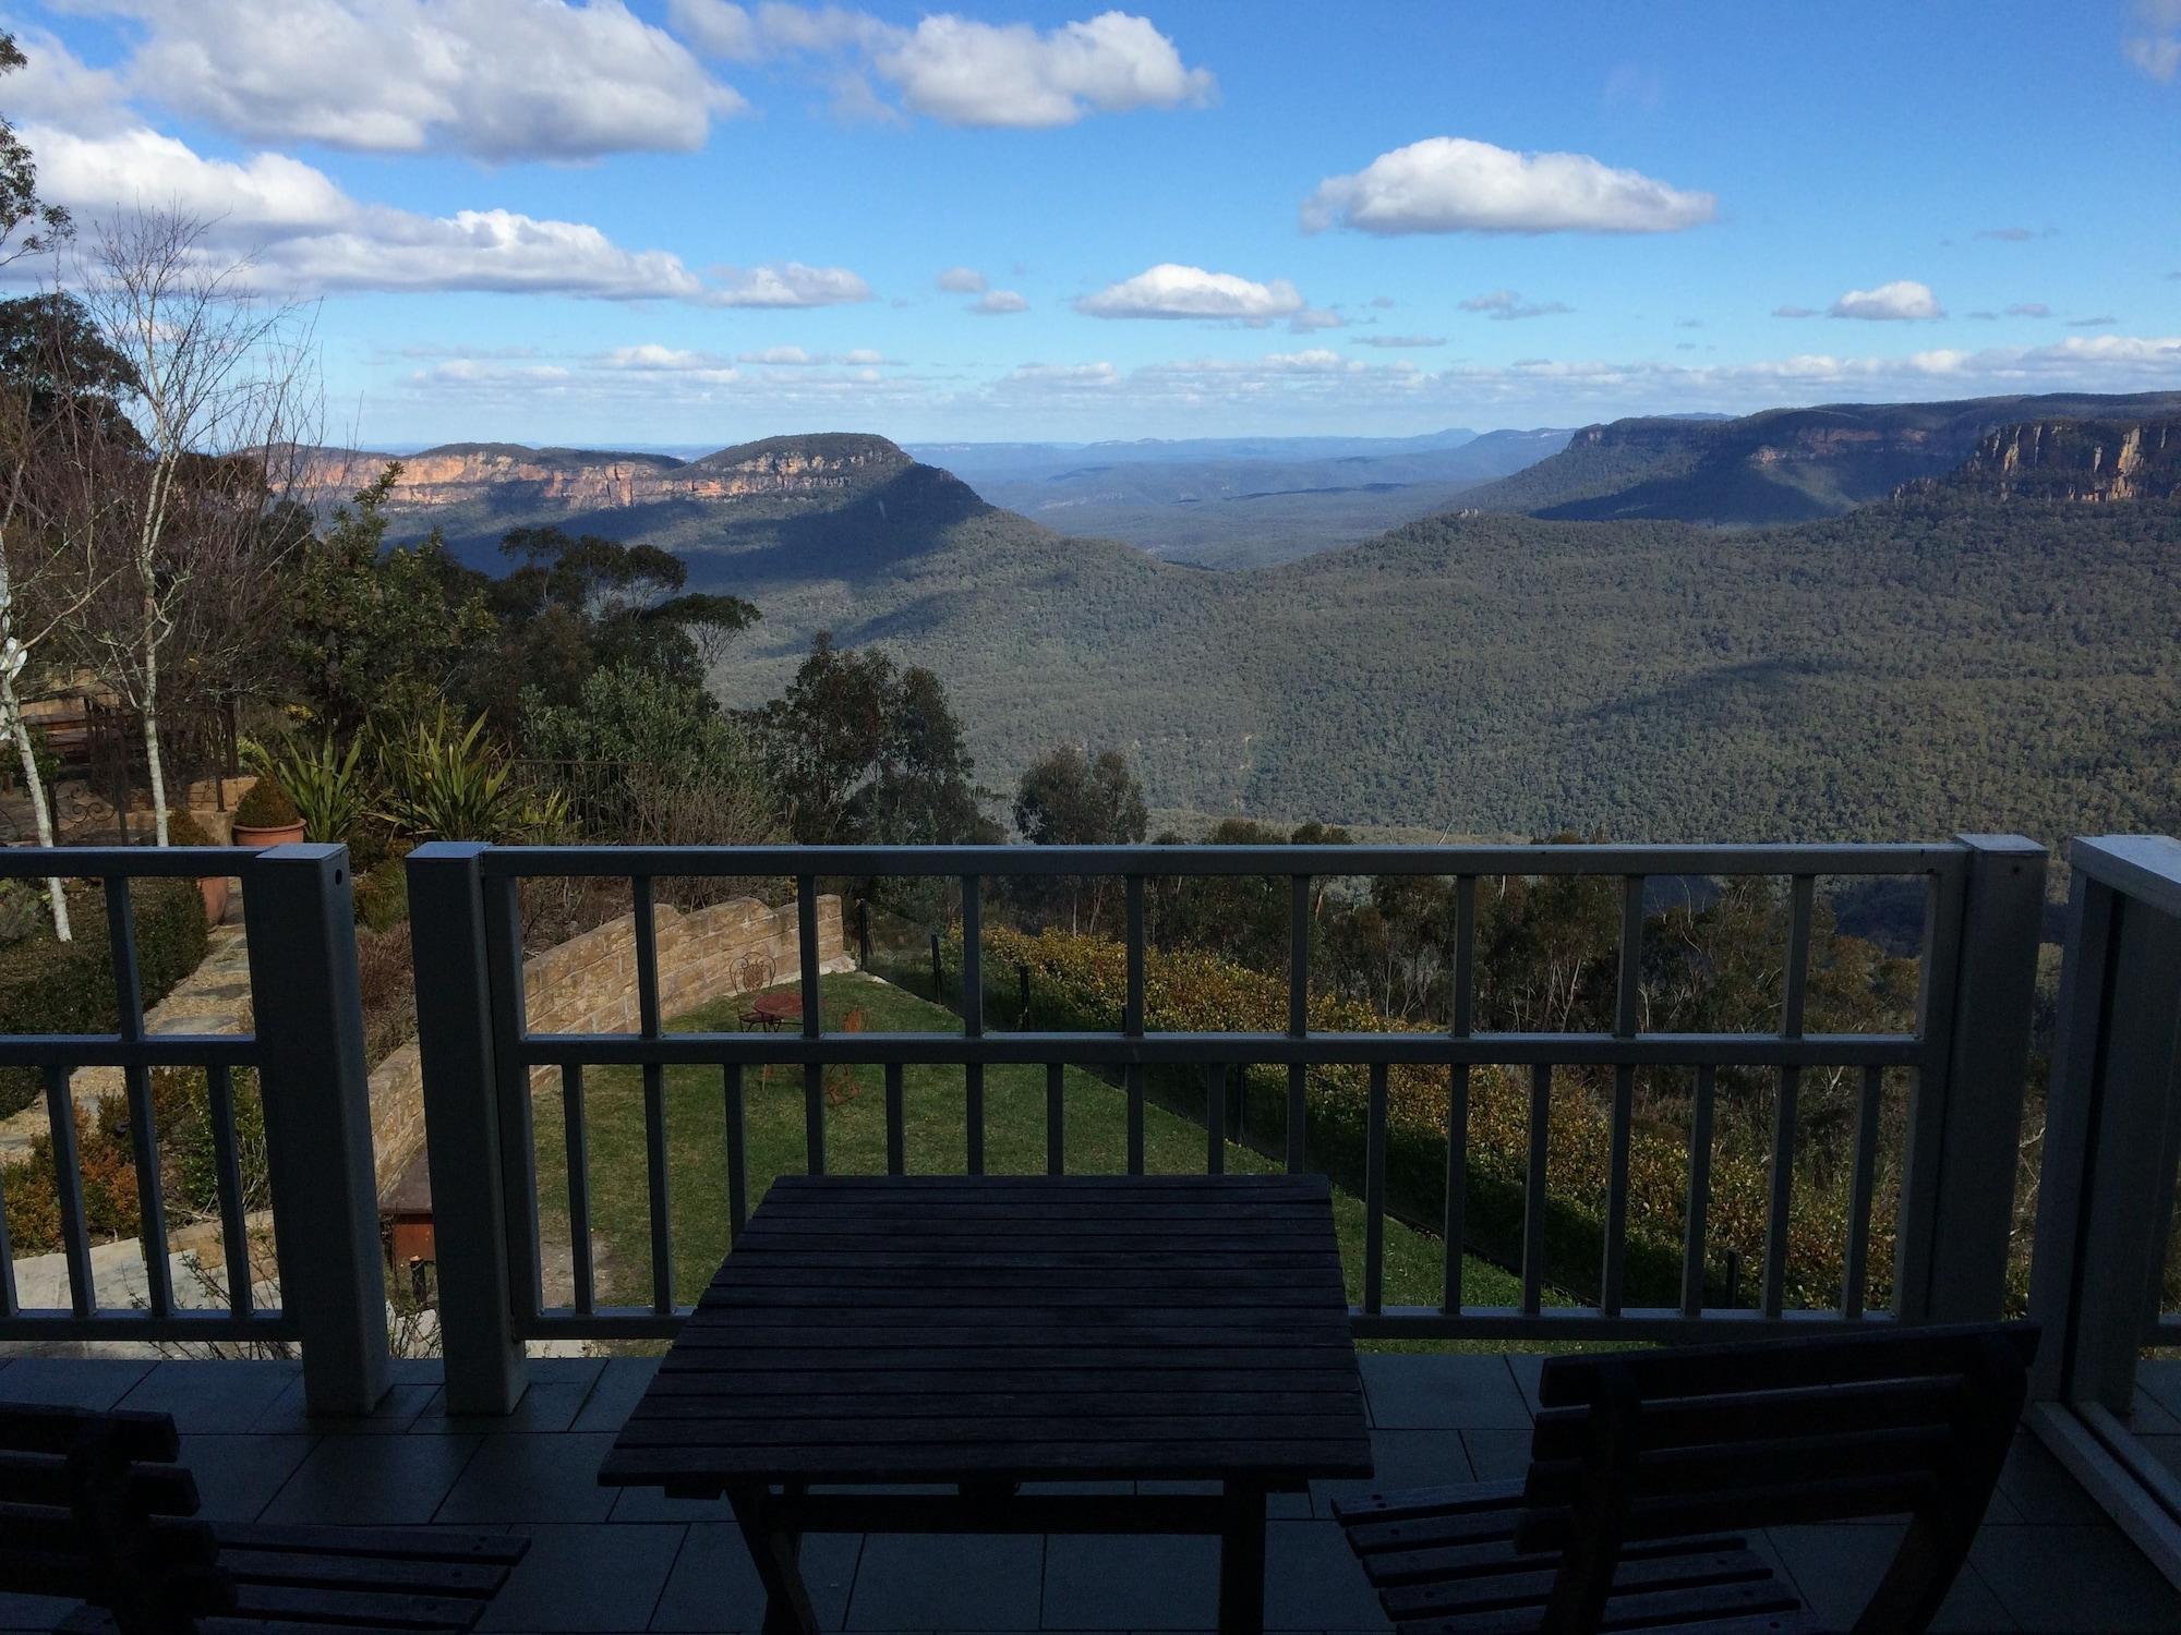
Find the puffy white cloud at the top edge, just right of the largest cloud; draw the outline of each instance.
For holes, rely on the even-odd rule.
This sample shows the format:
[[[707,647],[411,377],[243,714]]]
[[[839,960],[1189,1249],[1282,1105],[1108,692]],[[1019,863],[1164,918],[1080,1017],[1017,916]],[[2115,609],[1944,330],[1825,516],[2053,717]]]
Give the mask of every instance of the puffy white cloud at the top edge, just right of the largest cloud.
[[[835,89],[870,113],[890,109],[870,78],[909,113],[942,124],[1047,129],[1088,113],[1204,107],[1217,96],[1210,70],[1189,68],[1180,48],[1147,20],[1104,11],[1038,31],[938,13],[914,28],[846,7],[672,0],[672,26],[709,57],[846,59]],[[870,76],[870,78],[866,78]],[[835,96],[842,107],[842,96]]]

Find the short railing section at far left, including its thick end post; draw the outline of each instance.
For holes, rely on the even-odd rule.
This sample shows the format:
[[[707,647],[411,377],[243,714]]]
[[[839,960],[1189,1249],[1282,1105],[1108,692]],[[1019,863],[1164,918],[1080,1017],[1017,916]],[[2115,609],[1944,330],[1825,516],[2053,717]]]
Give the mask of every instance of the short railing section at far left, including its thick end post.
[[[242,879],[251,1033],[153,1033],[144,1027],[135,911],[140,879]],[[0,1210],[0,1341],[264,1343],[303,1352],[310,1402],[362,1413],[386,1389],[386,1293],[371,1184],[362,1009],[349,859],[340,846],[240,848],[9,848],[0,879],[98,881],[113,970],[111,1033],[0,1036],[0,1066],[44,1079],[52,1184],[59,1206],[68,1308],[17,1299],[7,1214]],[[161,1136],[153,1068],[198,1068],[207,1081],[225,1262],[225,1306],[177,1299],[168,1264]],[[120,1068],[137,1184],[144,1304],[103,1308],[83,1208],[74,1075]],[[233,1075],[255,1070],[264,1103],[266,1179],[279,1264],[279,1304],[253,1295],[249,1221],[236,1140]]]

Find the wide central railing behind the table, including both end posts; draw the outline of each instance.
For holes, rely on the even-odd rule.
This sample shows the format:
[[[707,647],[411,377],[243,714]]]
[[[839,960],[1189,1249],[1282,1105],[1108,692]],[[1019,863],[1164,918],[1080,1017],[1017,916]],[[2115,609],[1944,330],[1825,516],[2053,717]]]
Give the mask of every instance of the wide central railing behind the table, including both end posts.
[[[903,1162],[901,1081],[909,1064],[964,1068],[962,1164],[981,1173],[986,1155],[984,1070],[1043,1064],[1117,1068],[1128,1103],[1128,1168],[1143,1168],[1145,1070],[1195,1066],[1210,1083],[1241,1066],[1287,1068],[1285,1158],[1306,1162],[1304,1079],[1313,1066],[1363,1066],[1365,1264],[1354,1310],[1359,1334],[1511,1339],[1679,1339],[1723,1321],[1780,1325],[1876,1317],[1948,1319],[1996,1315],[2004,1295],[2015,1140],[2022,1116],[2044,898],[2044,848],[2022,837],[1961,837],[1935,846],[1134,846],[1134,848],[486,848],[423,846],[410,855],[419,1031],[425,1068],[432,1192],[436,1212],[441,1323],[449,1400],[473,1410],[513,1402],[530,1339],[643,1339],[672,1334],[674,1240],[665,1147],[665,1068],[713,1066],[722,1075],[722,1158],[739,1216],[752,1177],[742,1142],[742,1088],[750,1068],[800,1068],[807,1162],[827,1166],[824,1073],[879,1066],[885,1073],[888,1166]],[[1005,876],[1106,876],[1123,883],[1128,988],[1114,1031],[986,1029],[979,900]],[[1280,1033],[1152,1033],[1145,1029],[1145,883],[1173,876],[1276,876],[1291,883],[1287,1029]],[[1352,876],[1444,876],[1457,883],[1459,929],[1453,1025],[1444,1031],[1322,1033],[1309,1027],[1313,881]],[[1618,881],[1620,970],[1614,1027],[1605,1033],[1494,1033],[1474,1027],[1474,894],[1479,879],[1581,874]],[[608,876],[635,903],[639,1027],[635,1033],[534,1033],[526,1025],[521,883],[534,876]],[[652,944],[654,883],[691,876],[792,879],[800,924],[803,1027],[796,1036],[667,1033],[659,1014]],[[820,879],[940,876],[962,887],[962,1033],[827,1033],[818,1005]],[[1778,876],[1788,881],[1791,927],[1784,1001],[1762,1033],[1647,1033],[1640,1029],[1638,961],[1644,883],[1675,876]],[[1911,1033],[1810,1033],[1804,1029],[1815,883],[1836,876],[1924,881],[1921,1001]],[[1383,1256],[1387,1216],[1387,1070],[1439,1066],[1448,1075],[1446,1262],[1463,1254],[1461,1131],[1470,1073],[1525,1066],[1531,1073],[1531,1144],[1525,1182],[1522,1301],[1470,1306],[1459,1275],[1439,1306],[1387,1306]],[[650,1182],[652,1299],[606,1308],[589,1275],[585,1070],[635,1066],[643,1077]],[[1612,1068],[1610,1197],[1599,1299],[1544,1304],[1546,1114],[1557,1066]],[[1692,1142],[1684,1299],[1671,1308],[1623,1301],[1627,1249],[1627,1155],[1631,1083],[1638,1068],[1697,1070],[1695,1118],[1708,1127],[1714,1075],[1764,1068],[1775,1075],[1778,1118],[1767,1247],[1758,1304],[1716,1310],[1703,1297],[1708,1140]],[[1791,1164],[1799,1077],[1812,1068],[1860,1070],[1856,1188],[1849,1277],[1841,1306],[1825,1312],[1784,1301]],[[1889,1070],[1913,1077],[1908,1151],[1895,1212],[1895,1297],[1889,1312],[1863,1310],[1869,1247],[1876,1110]],[[567,1127],[567,1199],[574,1304],[547,1308],[541,1277],[539,1182],[532,1138],[534,1075],[558,1075]],[[1221,1097],[1210,1097],[1206,1168],[1221,1162]],[[1047,1097],[1047,1151],[1062,1158],[1058,1097]],[[763,1179],[763,1177],[757,1177]],[[482,1184],[480,1184],[482,1182]]]

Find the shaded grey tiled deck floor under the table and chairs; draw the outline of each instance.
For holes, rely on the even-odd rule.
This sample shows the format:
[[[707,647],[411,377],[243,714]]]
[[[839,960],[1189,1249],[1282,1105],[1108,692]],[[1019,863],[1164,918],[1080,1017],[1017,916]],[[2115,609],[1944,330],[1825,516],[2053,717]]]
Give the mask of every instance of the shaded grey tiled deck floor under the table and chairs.
[[[537,1543],[493,1604],[493,1631],[757,1631],[757,1581],[724,1504],[593,1480],[650,1367],[534,1362],[519,1413],[493,1421],[447,1417],[436,1365],[403,1365],[373,1419],[338,1426],[303,1417],[284,1362],[15,1360],[0,1362],[0,1400],[172,1413],[216,1517],[521,1528]],[[1538,1358],[1370,1356],[1363,1373],[1374,1487],[1522,1469]],[[2166,1406],[2181,1415],[2181,1391]],[[1333,1491],[1274,1500],[1274,1628],[1385,1628],[1326,1519]],[[1804,1596],[1839,1618],[1860,1607],[1891,1539],[1884,1524],[1764,1535]],[[1210,1539],[824,1535],[805,1543],[805,1572],[829,1628],[1189,1631],[1213,1622],[1213,1550]],[[48,1628],[63,1611],[0,1594],[0,1631]],[[2181,1596],[2024,1439],[1939,1628],[2177,1631]]]

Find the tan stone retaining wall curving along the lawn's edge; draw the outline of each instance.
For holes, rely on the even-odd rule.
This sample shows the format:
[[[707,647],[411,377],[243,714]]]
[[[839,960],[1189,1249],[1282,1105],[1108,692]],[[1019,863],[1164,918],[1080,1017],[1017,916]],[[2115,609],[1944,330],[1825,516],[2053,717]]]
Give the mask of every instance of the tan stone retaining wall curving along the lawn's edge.
[[[661,1016],[680,1016],[737,992],[735,970],[750,955],[772,961],[774,981],[794,981],[803,961],[792,903],[768,909],[739,896],[691,913],[661,903],[654,933]],[[855,968],[838,896],[818,898],[818,968]],[[635,916],[624,913],[526,959],[523,998],[537,1033],[635,1033]],[[414,1040],[371,1073],[371,1149],[379,1197],[386,1197],[423,1151],[423,1070]]]

